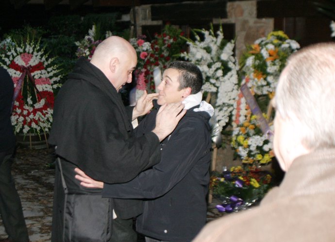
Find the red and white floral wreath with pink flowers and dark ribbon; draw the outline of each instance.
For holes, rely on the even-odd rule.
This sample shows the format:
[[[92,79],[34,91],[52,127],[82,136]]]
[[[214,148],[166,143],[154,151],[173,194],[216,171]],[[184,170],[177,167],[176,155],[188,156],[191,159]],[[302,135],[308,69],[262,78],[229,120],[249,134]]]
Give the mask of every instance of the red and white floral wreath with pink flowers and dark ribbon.
[[[5,44],[7,43],[7,44]],[[11,44],[8,44],[11,43]],[[0,43],[5,51],[0,54],[0,65],[13,79],[16,99],[11,116],[15,133],[40,134],[49,132],[54,104],[53,90],[60,87],[57,66],[52,65],[40,42],[18,45],[10,37]]]

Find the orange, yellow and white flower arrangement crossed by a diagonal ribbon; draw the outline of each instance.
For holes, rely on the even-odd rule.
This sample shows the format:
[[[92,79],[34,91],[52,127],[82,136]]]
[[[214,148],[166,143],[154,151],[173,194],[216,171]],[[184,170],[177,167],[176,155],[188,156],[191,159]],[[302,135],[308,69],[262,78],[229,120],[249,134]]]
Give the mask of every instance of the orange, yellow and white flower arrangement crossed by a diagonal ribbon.
[[[257,39],[241,56],[241,86],[247,84],[262,112],[267,113],[287,58],[299,48],[295,40],[289,39],[282,31],[276,31]],[[258,128],[255,116],[251,115],[241,92],[236,97],[234,107],[232,146],[236,154],[245,164],[268,164],[273,157],[272,144]]]

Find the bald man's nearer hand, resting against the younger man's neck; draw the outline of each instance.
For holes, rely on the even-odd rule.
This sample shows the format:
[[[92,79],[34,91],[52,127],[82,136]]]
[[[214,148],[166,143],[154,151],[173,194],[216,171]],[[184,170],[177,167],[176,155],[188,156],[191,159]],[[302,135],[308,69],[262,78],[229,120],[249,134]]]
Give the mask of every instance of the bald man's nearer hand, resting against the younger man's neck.
[[[186,109],[184,109],[184,104],[181,102],[164,104],[159,108],[156,116],[156,126],[152,130],[158,136],[159,141],[162,141],[172,133],[185,113]]]

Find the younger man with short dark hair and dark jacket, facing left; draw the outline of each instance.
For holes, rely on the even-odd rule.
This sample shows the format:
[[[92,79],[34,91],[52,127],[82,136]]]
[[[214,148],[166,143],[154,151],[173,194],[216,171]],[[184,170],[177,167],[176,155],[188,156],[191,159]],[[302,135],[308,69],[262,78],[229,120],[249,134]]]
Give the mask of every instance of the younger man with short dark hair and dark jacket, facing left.
[[[103,197],[146,199],[136,230],[147,242],[189,242],[205,225],[214,109],[201,101],[201,86],[201,71],[192,63],[172,62],[165,70],[157,104],[183,101],[187,112],[161,142],[161,162],[152,169],[123,184],[103,184],[76,169],[83,186],[103,187]],[[156,115],[157,109],[139,124],[138,137],[154,127]]]

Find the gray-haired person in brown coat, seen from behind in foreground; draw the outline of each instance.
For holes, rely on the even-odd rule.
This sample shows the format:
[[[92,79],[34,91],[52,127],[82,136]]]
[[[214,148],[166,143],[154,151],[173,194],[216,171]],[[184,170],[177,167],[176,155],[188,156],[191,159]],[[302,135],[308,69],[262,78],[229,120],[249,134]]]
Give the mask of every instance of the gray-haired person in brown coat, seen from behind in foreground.
[[[335,44],[294,53],[273,104],[282,184],[259,207],[209,223],[194,242],[335,240]]]

